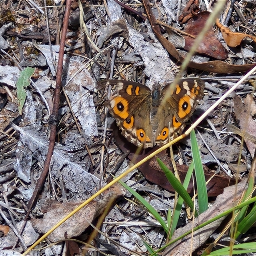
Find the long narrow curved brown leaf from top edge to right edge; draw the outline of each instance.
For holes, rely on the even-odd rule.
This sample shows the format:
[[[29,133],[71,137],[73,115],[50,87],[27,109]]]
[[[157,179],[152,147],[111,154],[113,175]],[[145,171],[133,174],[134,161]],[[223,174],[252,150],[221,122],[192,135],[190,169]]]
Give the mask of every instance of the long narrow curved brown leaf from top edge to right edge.
[[[143,0],[143,4],[145,7],[145,10],[147,12],[148,20],[150,22],[150,25],[152,27],[152,30],[154,34],[156,35],[159,42],[164,46],[167,52],[169,52],[175,59],[178,60],[178,62],[182,62],[185,58],[185,56],[181,55],[174,45],[169,42],[167,39],[165,39],[164,36],[161,35],[161,30],[159,25],[157,24],[156,18],[154,14],[152,13],[151,7],[148,4],[146,0]],[[214,60],[214,61],[208,61],[203,63],[195,63],[193,61],[190,61],[188,63],[189,68],[196,68],[199,70],[207,71],[207,72],[214,72],[219,74],[230,74],[230,73],[238,73],[238,72],[244,72],[247,70],[250,70],[253,68],[255,64],[245,64],[245,65],[232,65],[228,64],[221,60]]]

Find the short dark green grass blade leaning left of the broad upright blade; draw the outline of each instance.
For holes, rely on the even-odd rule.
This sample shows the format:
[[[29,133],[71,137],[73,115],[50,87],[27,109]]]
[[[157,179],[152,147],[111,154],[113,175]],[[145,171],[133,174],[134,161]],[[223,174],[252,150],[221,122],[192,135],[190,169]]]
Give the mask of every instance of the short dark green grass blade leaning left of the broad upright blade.
[[[169,182],[171,183],[172,187],[175,189],[175,191],[177,191],[177,193],[179,194],[179,196],[181,196],[184,201],[188,204],[188,206],[191,209],[194,209],[194,203],[191,199],[191,197],[188,195],[187,190],[182,186],[182,184],[180,183],[180,181],[175,177],[175,175],[164,165],[164,163],[159,159],[156,158],[159,166],[161,167],[161,169],[164,171],[164,174],[166,176],[166,178],[169,180]],[[198,214],[197,212],[195,212],[195,216],[197,217]]]

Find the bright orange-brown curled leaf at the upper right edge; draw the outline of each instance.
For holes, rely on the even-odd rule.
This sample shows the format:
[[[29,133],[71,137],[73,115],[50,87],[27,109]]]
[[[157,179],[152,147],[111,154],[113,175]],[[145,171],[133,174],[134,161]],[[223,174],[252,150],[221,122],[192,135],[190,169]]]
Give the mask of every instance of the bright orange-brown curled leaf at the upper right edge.
[[[215,21],[215,24],[220,29],[225,42],[230,47],[236,47],[240,45],[242,40],[246,37],[251,38],[256,43],[256,36],[242,34],[239,32],[232,32],[229,28],[224,27],[218,19]]]

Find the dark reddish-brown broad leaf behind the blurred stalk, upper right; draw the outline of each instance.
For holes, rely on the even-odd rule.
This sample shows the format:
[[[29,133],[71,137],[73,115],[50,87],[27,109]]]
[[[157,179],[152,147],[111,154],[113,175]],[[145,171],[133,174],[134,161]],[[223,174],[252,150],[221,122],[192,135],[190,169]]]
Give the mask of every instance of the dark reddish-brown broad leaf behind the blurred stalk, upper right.
[[[188,21],[188,26],[185,28],[184,32],[193,36],[198,36],[198,34],[204,28],[205,22],[209,18],[210,14],[210,12],[199,12],[196,16]],[[196,39],[190,36],[183,37],[186,42],[184,49],[189,51]],[[196,52],[206,54],[218,60],[228,58],[228,51],[216,38],[213,27],[207,31]]]

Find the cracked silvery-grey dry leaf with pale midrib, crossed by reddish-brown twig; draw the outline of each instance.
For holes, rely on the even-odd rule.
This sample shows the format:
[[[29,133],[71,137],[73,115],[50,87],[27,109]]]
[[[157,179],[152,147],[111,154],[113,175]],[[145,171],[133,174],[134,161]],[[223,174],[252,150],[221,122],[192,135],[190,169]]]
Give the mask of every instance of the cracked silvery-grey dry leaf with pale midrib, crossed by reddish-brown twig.
[[[20,132],[19,152],[22,148],[27,148],[29,164],[31,157],[35,157],[40,163],[44,163],[47,155],[49,141],[43,132],[37,131],[34,127],[19,127],[13,124],[13,128]],[[86,143],[86,137],[74,139],[76,144]],[[81,148],[81,147],[80,147]],[[92,196],[99,189],[99,179],[88,172],[90,167],[89,156],[85,154],[84,162],[78,163],[75,153],[69,153],[68,146],[55,144],[51,160],[51,174],[57,181],[64,181],[66,191],[69,191],[71,200],[83,200]],[[19,158],[20,159],[20,158]],[[84,164],[82,166],[82,164]],[[23,165],[19,165],[22,168]],[[26,165],[29,166],[29,165]],[[20,170],[19,170],[20,171]],[[21,170],[26,174],[26,170]],[[20,172],[21,172],[20,171]],[[64,195],[65,196],[65,195]]]

